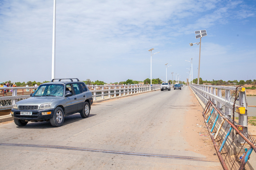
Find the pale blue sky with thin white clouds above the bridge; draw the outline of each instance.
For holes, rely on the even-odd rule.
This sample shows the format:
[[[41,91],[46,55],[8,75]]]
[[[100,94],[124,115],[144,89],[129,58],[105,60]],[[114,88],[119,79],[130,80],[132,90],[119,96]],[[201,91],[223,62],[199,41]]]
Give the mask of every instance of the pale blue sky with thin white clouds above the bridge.
[[[185,80],[193,58],[203,80],[256,79],[256,1],[140,0],[56,2],[55,78],[114,83]],[[50,81],[53,0],[0,0],[0,82]],[[174,76],[175,79],[175,76]]]

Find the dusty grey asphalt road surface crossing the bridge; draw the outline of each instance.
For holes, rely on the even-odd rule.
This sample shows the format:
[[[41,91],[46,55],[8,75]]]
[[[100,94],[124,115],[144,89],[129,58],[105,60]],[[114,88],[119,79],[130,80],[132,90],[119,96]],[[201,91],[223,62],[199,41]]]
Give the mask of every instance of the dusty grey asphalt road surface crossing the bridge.
[[[0,125],[0,169],[219,168],[218,162],[185,149],[189,141],[179,131],[188,113],[188,92],[186,86],[95,103],[89,118],[70,115],[61,127]]]

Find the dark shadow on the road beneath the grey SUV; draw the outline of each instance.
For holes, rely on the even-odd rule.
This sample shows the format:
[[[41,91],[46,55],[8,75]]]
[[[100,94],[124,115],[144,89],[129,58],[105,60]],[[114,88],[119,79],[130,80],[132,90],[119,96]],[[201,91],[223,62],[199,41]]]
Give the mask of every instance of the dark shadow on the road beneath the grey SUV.
[[[83,119],[89,120],[90,117],[93,117],[95,115],[96,114],[90,114],[88,118],[82,118],[80,113],[69,115],[64,118],[64,123],[60,127],[63,127],[70,123],[78,122],[79,120],[83,120]],[[50,121],[48,121],[48,122],[44,121],[44,122],[29,122],[26,126],[17,126],[17,128],[20,128],[20,129],[48,129],[48,128],[57,128],[57,127],[53,127],[51,125]]]

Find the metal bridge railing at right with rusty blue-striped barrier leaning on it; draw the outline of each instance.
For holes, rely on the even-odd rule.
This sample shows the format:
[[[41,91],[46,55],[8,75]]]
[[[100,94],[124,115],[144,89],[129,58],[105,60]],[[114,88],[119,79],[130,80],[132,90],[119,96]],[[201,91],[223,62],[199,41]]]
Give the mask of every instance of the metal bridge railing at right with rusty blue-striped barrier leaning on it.
[[[189,86],[206,105],[203,111],[205,123],[223,168],[243,169],[252,151],[256,153],[256,139],[248,132],[245,88]],[[235,112],[239,115],[238,123],[234,121]]]

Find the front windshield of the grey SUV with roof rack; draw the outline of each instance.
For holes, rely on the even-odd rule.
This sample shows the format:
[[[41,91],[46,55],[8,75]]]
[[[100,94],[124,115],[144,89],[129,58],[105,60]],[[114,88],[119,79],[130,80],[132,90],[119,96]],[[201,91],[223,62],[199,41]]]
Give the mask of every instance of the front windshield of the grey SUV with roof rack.
[[[44,84],[39,86],[32,96],[63,96],[63,84]]]

